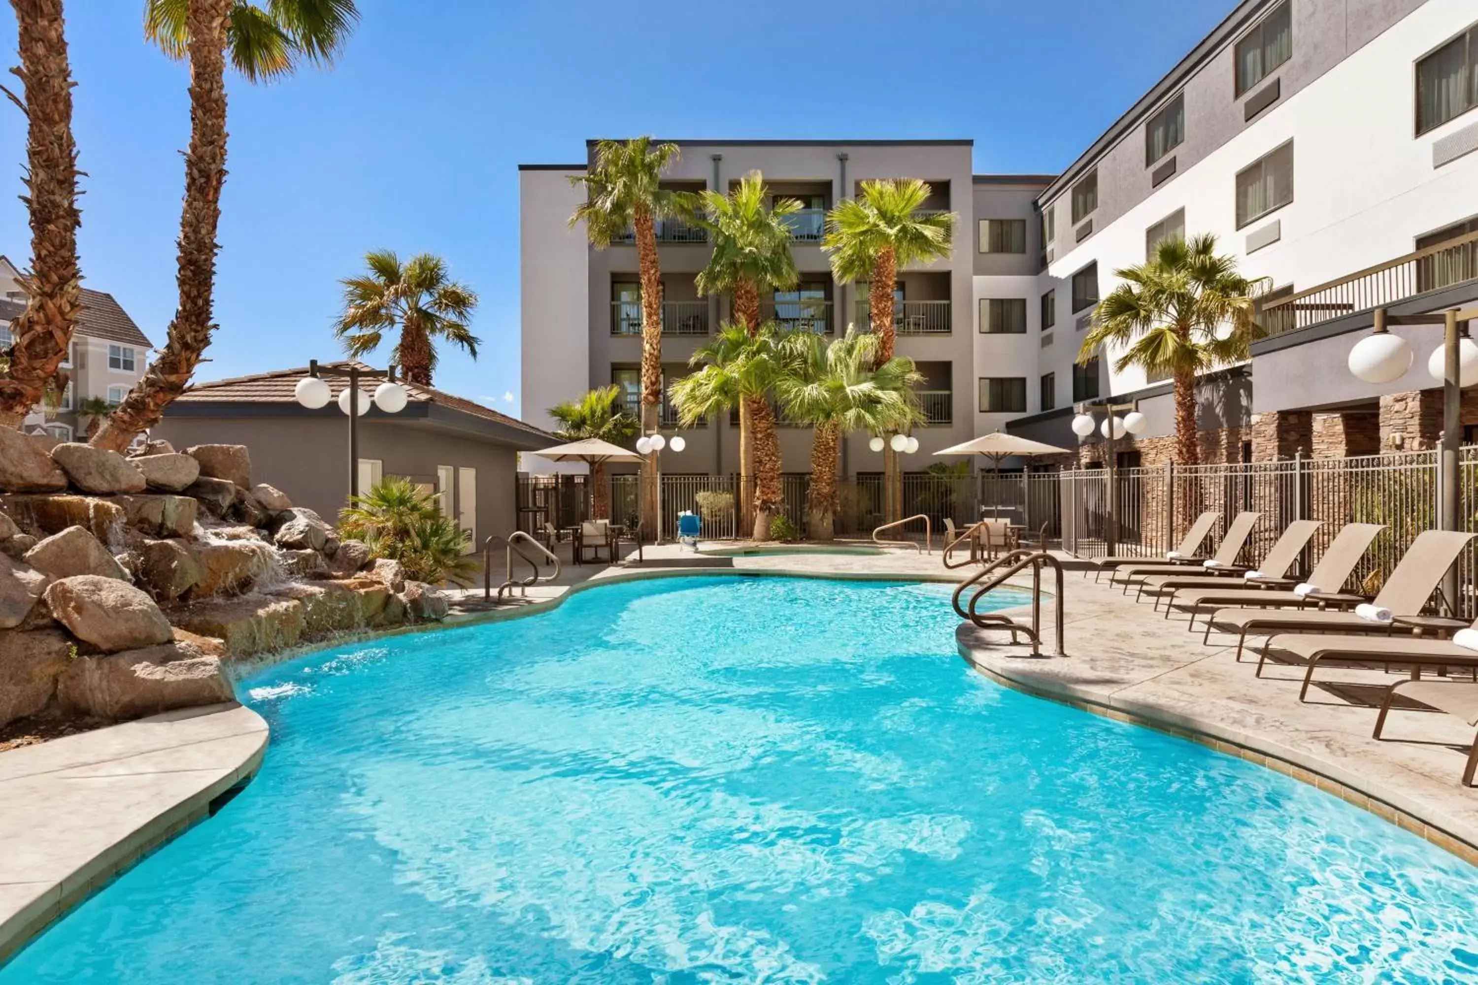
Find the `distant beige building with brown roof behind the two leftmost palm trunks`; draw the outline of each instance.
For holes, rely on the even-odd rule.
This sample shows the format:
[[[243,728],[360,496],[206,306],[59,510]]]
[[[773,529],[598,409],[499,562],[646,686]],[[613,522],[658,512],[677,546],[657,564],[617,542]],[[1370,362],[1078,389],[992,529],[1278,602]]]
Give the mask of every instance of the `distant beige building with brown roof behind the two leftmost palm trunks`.
[[[0,349],[10,346],[10,322],[25,310],[27,292],[15,264],[0,255]],[[62,442],[81,440],[92,416],[78,413],[89,399],[123,403],[149,365],[148,337],[123,306],[103,291],[83,288],[83,310],[72,329],[72,347],[62,371],[67,390],[55,406],[41,405],[27,415],[22,430]]]

